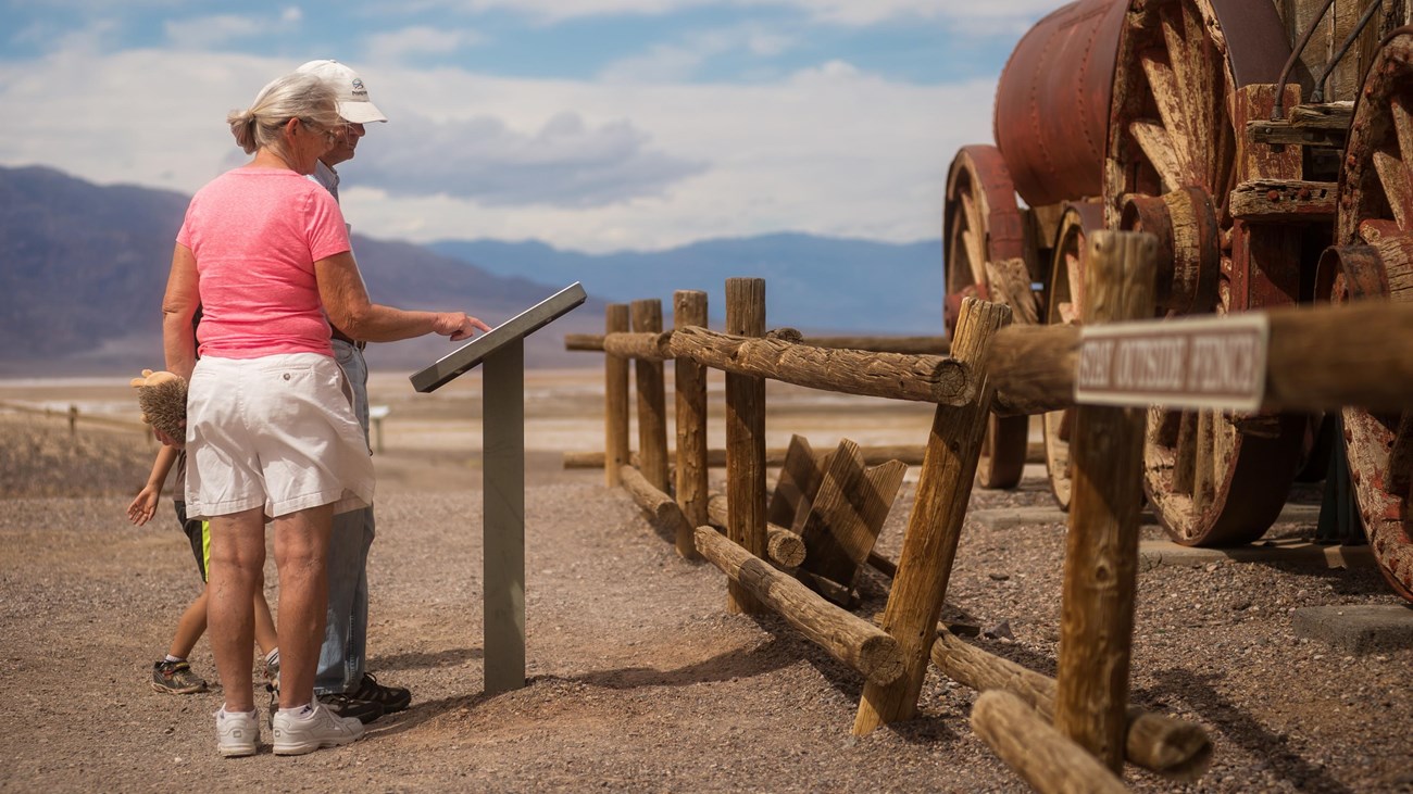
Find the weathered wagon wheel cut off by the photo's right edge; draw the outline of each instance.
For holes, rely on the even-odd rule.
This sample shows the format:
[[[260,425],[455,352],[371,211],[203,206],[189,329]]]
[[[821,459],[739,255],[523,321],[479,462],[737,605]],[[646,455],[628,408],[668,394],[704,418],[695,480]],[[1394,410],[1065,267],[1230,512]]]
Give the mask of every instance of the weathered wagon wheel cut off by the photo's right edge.
[[[1338,247],[1321,259],[1330,298],[1413,301],[1413,28],[1385,40],[1354,110],[1340,175]],[[1359,516],[1379,571],[1413,600],[1413,411],[1345,408]]]

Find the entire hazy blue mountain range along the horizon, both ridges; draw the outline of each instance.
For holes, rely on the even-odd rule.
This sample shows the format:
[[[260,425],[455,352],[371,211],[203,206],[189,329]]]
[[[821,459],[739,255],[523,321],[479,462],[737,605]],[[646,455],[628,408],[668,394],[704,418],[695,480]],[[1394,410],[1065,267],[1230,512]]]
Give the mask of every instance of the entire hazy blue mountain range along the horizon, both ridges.
[[[51,168],[0,168],[0,376],[129,373],[161,366],[161,295],[188,196],[99,186]],[[538,242],[431,246],[353,236],[373,300],[462,308],[496,324],[574,281],[589,301],[526,348],[530,366],[584,366],[567,332],[602,333],[603,304],[708,294],[719,326],[728,277],[766,280],[767,325],[805,332],[938,333],[941,246],[769,235],[664,251],[584,254]],[[369,349],[376,369],[418,369],[449,352],[424,338]]]

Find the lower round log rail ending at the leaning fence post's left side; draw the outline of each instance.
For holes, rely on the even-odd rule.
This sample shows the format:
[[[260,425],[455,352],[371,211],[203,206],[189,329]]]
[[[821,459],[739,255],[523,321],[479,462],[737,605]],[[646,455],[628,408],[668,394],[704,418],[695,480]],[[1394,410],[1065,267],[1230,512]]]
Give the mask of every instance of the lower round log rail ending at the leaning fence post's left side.
[[[862,617],[824,600],[787,574],[725,538],[697,527],[697,551],[731,581],[774,609],[791,626],[869,681],[887,684],[903,672],[897,640]]]

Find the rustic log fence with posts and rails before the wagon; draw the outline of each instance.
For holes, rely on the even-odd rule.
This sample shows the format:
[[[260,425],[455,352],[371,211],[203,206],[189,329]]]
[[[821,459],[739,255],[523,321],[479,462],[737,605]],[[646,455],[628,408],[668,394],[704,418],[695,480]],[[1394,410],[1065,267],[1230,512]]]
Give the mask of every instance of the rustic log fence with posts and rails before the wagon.
[[[1089,287],[1095,314],[1088,321],[1152,316],[1152,291],[1140,288],[1154,283],[1152,236],[1096,232],[1087,244],[1091,278],[1102,271],[1109,274],[1102,283],[1128,284],[1108,297],[1098,285]],[[1056,774],[1087,780],[1091,790],[1122,790],[1125,762],[1180,781],[1200,777],[1212,752],[1205,732],[1128,702],[1140,497],[1135,461],[1142,455],[1143,405],[1080,405],[1077,411],[1080,429],[1071,441],[1077,490],[1065,550],[1058,677],[992,657],[945,630],[938,634],[986,413],[1036,414],[1075,405],[1081,331],[1010,326],[1005,305],[968,298],[945,348],[948,356],[935,352],[942,345],[931,338],[896,345],[852,338],[855,348],[831,348],[825,339],[810,343],[793,332],[767,333],[763,280],[731,278],[726,297],[726,333],[705,328],[705,294],[688,291],[674,297],[680,316],[671,331],[661,331],[660,311],[658,325],[639,322],[640,315],[653,315],[640,301],[633,304],[634,331],[629,332],[626,307],[612,304],[603,336],[574,335],[567,348],[605,353],[606,452],[599,461],[608,483],[625,485],[654,523],[670,530],[682,557],[701,554],[726,574],[728,610],[773,609],[858,671],[865,678],[853,723],[858,735],[913,716],[931,663],[985,691],[974,728],[1027,780],[1034,780],[1036,769],[1043,774],[1034,759],[1023,757],[1027,746],[1044,747],[1046,763],[1064,766]],[[1413,307],[1355,304],[1259,314],[1270,328],[1263,410],[1413,407],[1413,360],[1399,355],[1397,346],[1362,345],[1352,336],[1371,322],[1413,333]],[[670,459],[666,431],[640,429],[640,448],[627,449],[627,362],[643,367],[667,359],[678,376],[675,497],[667,492],[666,470],[649,470]],[[706,469],[719,465],[712,455],[721,454],[705,445],[706,367],[726,373],[725,496],[705,486]],[[661,370],[646,372],[637,384],[639,427],[663,427]],[[766,379],[937,405],[921,458],[917,448],[907,448],[907,463],[920,465],[921,472],[901,554],[896,562],[872,551],[866,555],[866,564],[892,578],[877,629],[793,575],[801,564],[800,547],[790,543],[798,521],[784,526],[784,513],[776,504],[767,513],[766,504],[766,468],[783,465],[790,455],[767,455],[764,448]],[[644,389],[653,393],[644,396]],[[788,479],[781,473],[777,492],[805,487]]]

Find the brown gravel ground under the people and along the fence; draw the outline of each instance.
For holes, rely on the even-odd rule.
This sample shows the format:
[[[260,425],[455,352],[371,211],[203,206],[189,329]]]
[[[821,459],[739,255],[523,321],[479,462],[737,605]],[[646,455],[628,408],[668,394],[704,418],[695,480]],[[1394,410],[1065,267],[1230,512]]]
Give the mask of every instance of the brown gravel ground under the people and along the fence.
[[[917,719],[852,736],[856,674],[779,617],[726,615],[715,568],[678,559],[601,473],[543,455],[527,485],[528,687],[480,691],[479,478],[448,458],[441,476],[390,472],[377,503],[369,665],[413,706],[350,747],[222,760],[219,691],[147,684],[198,588],[170,507],[144,528],[124,519],[151,448],[66,435],[0,422],[3,791],[1027,790],[972,733],[975,692],[935,670]],[[894,558],[913,485],[879,540]],[[971,507],[1048,499],[1030,478]],[[1060,524],[969,523],[944,619],[1053,675],[1063,541]],[[865,575],[861,615],[886,586]],[[1291,630],[1300,606],[1396,603],[1376,572],[1159,567],[1139,593],[1132,699],[1204,725],[1215,757],[1193,786],[1129,767],[1133,790],[1413,791],[1413,650],[1348,656]],[[215,682],[205,641],[192,665]]]

